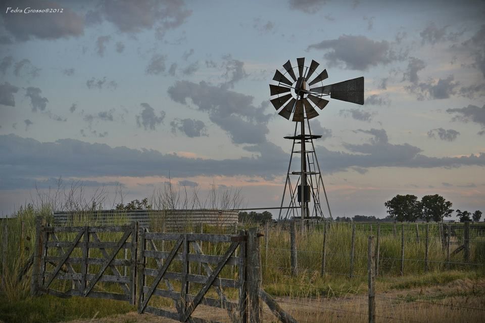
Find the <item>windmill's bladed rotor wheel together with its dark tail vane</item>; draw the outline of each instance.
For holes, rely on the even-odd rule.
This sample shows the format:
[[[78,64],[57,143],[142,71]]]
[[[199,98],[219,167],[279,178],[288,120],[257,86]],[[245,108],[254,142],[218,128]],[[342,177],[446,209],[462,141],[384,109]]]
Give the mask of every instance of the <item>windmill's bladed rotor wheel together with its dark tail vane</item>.
[[[329,102],[325,97],[364,104],[364,77],[324,85],[328,73],[326,69],[319,72],[319,66],[315,60],[306,66],[305,58],[297,58],[296,66],[288,60],[283,64],[284,73],[275,71],[273,81],[277,83],[269,84],[270,102],[280,116],[290,120],[293,115],[291,120],[296,122],[315,118],[316,108],[322,110]]]

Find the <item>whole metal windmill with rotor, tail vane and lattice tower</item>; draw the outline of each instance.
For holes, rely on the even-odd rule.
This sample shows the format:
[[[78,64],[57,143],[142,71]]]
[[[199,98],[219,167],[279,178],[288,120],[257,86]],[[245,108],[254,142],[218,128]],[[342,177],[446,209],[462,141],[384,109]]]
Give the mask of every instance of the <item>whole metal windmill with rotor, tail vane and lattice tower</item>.
[[[318,116],[315,108],[318,107],[322,110],[326,107],[329,101],[325,98],[328,97],[360,105],[364,104],[364,77],[324,85],[323,81],[328,78],[328,74],[326,69],[316,73],[319,65],[319,63],[312,60],[310,66],[306,66],[305,58],[297,58],[297,66],[293,67],[288,60],[283,65],[285,73],[283,74],[276,70],[273,77],[275,82],[274,84],[269,84],[272,97],[270,101],[276,111],[278,111],[278,114],[287,120],[295,122],[294,135],[284,137],[284,139],[293,140],[293,147],[286,173],[278,220],[282,219],[282,208],[286,193],[289,195],[289,207],[284,215],[285,219],[290,214],[293,217],[298,216],[299,210],[302,221],[310,218],[310,210],[312,217],[324,218],[320,204],[321,191],[323,191],[325,196],[328,216],[330,219],[332,218],[320,172],[320,165],[318,164],[313,144],[313,140],[321,138],[322,135],[311,132],[309,120]],[[298,73],[298,77],[296,73]],[[310,80],[314,74],[317,76]],[[298,128],[300,128],[300,134],[297,134]],[[306,129],[308,131],[305,131]],[[311,146],[310,150],[307,149],[307,145],[308,147]],[[295,154],[300,155],[299,171],[292,171],[292,160]],[[295,176],[298,179],[296,181],[295,179],[293,180],[293,183],[295,183],[293,185],[292,177],[294,178]]]

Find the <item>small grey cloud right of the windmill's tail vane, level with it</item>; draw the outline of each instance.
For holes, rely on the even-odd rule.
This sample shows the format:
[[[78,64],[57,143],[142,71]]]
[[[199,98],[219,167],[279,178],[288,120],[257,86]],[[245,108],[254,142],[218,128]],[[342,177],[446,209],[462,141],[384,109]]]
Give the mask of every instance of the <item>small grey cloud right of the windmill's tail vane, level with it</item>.
[[[424,99],[448,99],[451,95],[457,93],[457,88],[460,85],[458,81],[455,81],[453,75],[449,75],[447,78],[440,78],[437,81],[429,79],[427,82],[420,82],[406,86],[405,88],[416,95],[419,101]]]

